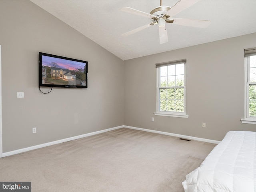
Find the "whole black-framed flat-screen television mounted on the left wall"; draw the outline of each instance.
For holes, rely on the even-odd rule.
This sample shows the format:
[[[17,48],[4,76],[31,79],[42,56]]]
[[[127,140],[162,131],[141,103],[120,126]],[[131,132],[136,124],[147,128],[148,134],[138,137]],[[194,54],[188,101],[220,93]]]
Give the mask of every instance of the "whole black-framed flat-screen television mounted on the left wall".
[[[39,86],[87,88],[88,62],[39,52]]]

